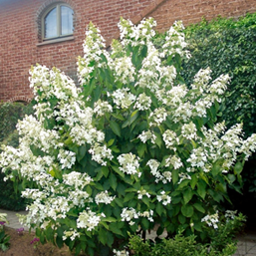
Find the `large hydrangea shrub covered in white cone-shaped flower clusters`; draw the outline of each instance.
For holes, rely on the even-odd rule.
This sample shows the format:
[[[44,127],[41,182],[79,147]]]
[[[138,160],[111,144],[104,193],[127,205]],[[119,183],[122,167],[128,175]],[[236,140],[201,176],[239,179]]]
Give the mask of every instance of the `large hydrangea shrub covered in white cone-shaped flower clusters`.
[[[241,181],[256,135],[244,140],[242,125],[215,124],[229,77],[211,81],[200,70],[188,90],[182,24],[161,49],[154,26],[121,19],[121,40],[108,52],[91,23],[79,88],[56,68],[32,67],[36,118],[19,122],[20,145],[4,146],[0,166],[6,178],[31,181],[21,221],[42,243],[109,255],[156,223],[157,235],[181,228],[203,238],[227,186]]]

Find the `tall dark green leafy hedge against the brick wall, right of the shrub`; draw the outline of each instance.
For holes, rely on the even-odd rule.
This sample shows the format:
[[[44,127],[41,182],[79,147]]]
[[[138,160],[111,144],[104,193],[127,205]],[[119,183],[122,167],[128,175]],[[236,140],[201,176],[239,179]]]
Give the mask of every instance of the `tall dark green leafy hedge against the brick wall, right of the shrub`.
[[[228,127],[243,123],[246,136],[256,132],[256,13],[239,20],[203,20],[185,34],[192,55],[183,65],[186,83],[200,68],[210,67],[213,80],[229,74],[222,120]]]

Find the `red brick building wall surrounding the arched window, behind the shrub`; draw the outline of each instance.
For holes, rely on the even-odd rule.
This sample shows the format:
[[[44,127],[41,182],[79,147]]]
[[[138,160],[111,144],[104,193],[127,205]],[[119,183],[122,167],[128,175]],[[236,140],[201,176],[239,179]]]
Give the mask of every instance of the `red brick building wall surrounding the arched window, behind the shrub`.
[[[43,40],[42,15],[49,6],[67,4],[73,11],[73,35]],[[184,25],[204,16],[238,17],[256,12],[255,0],[0,0],[0,101],[29,102],[28,71],[40,63],[76,78],[77,57],[83,55],[85,30],[93,21],[110,43],[117,38],[120,17],[133,23],[153,17],[156,30],[167,30],[175,20]]]

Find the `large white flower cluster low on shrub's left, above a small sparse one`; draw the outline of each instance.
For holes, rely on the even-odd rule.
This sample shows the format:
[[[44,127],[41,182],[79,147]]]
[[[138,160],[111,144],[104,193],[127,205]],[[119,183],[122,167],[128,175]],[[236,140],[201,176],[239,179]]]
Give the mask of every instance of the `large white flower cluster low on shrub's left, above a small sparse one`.
[[[99,225],[101,217],[106,216],[104,213],[97,215],[96,212],[93,212],[90,209],[84,210],[78,217],[77,226],[80,228],[86,228],[88,231],[92,231]]]

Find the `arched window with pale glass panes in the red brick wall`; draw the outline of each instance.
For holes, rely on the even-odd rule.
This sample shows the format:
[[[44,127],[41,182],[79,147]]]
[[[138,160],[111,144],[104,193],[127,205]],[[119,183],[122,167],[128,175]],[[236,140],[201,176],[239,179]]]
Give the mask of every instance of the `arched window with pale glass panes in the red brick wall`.
[[[56,39],[73,35],[74,11],[58,3],[48,8],[42,16],[42,39]]]

